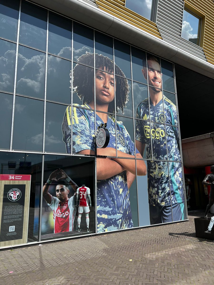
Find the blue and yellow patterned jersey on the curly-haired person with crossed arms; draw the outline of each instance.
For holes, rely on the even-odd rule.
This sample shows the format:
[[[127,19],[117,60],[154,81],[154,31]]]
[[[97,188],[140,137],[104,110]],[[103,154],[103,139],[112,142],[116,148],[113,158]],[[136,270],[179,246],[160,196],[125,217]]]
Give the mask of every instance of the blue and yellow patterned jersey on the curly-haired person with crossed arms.
[[[88,109],[81,109],[84,107]],[[94,122],[94,111],[89,106],[75,104],[72,116],[73,131],[73,153],[81,150],[95,151],[95,131],[104,122],[96,115],[96,129]],[[116,123],[115,119],[108,116],[107,129],[110,133],[108,147],[116,148],[127,154],[134,155],[134,143],[126,131],[122,122]],[[62,124],[66,150],[70,152],[71,145],[71,107],[67,107]],[[136,151],[139,153],[138,151]],[[133,227],[132,213],[129,200],[129,189],[127,186],[126,170],[105,180],[97,180],[97,231],[113,231]]]

